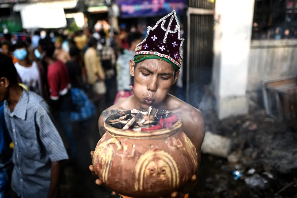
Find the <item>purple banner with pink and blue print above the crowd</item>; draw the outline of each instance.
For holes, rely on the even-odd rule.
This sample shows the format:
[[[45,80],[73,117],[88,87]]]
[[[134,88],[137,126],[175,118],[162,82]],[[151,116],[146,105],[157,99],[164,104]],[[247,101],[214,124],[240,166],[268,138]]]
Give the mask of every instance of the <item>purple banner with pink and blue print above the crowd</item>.
[[[185,0],[116,0],[122,18],[166,15],[175,9],[182,14]]]

